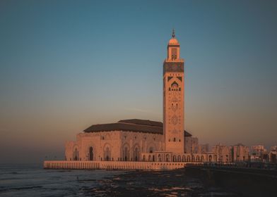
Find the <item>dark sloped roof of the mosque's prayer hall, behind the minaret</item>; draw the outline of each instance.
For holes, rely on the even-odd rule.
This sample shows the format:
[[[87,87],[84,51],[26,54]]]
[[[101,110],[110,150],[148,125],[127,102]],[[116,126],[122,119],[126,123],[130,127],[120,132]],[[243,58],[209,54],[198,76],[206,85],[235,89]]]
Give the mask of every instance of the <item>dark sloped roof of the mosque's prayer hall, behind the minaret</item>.
[[[110,124],[91,125],[84,132],[110,132],[110,131],[129,131],[143,132],[153,134],[163,134],[163,122],[152,120],[129,119],[119,120]],[[184,131],[184,136],[191,136],[189,132]]]

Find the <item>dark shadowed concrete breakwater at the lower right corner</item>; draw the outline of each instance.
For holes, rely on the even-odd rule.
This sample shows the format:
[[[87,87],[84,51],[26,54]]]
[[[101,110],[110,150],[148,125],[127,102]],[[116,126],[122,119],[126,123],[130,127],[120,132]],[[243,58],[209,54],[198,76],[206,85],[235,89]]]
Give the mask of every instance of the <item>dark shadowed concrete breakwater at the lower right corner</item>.
[[[200,177],[207,185],[220,186],[243,196],[276,196],[277,170],[247,167],[188,165],[187,174]]]

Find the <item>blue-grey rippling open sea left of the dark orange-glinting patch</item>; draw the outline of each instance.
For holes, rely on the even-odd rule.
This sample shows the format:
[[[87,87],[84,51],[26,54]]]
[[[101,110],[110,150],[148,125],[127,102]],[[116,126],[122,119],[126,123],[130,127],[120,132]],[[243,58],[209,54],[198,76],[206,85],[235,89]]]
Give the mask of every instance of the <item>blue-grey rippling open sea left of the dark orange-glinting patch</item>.
[[[0,165],[0,196],[89,196],[99,180],[122,171],[44,170],[42,164]]]

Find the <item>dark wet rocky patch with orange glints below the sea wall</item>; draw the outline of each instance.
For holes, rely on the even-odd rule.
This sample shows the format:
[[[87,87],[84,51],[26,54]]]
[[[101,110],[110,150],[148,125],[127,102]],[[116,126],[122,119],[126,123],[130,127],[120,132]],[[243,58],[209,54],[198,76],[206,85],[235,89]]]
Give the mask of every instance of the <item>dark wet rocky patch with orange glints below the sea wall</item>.
[[[185,170],[132,171],[98,180],[98,186],[83,189],[91,196],[237,196],[200,179]]]

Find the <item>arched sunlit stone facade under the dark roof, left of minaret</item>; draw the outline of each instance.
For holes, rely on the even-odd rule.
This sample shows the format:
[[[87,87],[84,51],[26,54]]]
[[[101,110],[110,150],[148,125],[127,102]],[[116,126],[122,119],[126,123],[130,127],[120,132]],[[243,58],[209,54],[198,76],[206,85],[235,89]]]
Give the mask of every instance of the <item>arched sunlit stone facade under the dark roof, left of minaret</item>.
[[[163,135],[143,132],[80,133],[66,142],[66,160],[139,161],[141,153],[164,151]]]

